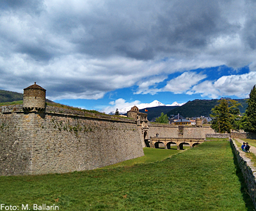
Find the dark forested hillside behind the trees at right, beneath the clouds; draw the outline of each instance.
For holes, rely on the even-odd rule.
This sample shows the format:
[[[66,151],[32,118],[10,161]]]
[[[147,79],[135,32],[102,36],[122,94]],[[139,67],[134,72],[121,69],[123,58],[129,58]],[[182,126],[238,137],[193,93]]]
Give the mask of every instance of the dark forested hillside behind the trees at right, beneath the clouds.
[[[245,112],[246,99],[235,99],[237,102],[241,103],[243,107],[239,107],[241,114]],[[193,100],[189,101],[186,104],[176,107],[172,111],[167,113],[167,116],[177,115],[178,113],[184,117],[195,117],[195,116],[210,116],[211,109],[215,105],[219,104],[218,99],[214,100]]]

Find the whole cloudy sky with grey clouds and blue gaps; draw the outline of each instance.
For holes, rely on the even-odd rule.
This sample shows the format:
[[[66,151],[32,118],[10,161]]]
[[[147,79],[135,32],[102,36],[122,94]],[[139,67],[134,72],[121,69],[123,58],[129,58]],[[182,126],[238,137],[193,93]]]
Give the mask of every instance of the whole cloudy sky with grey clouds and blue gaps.
[[[0,89],[108,113],[244,98],[256,84],[255,0],[1,0]]]

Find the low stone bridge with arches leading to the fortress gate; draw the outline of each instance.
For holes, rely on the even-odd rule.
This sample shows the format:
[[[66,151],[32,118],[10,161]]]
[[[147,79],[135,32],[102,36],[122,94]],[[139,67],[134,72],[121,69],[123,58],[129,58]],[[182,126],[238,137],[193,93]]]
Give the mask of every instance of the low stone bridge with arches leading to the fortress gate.
[[[159,145],[164,145],[165,149],[170,149],[173,145],[177,145],[177,150],[183,150],[183,145],[193,147],[204,141],[205,138],[150,137],[148,145],[151,148],[159,148]]]

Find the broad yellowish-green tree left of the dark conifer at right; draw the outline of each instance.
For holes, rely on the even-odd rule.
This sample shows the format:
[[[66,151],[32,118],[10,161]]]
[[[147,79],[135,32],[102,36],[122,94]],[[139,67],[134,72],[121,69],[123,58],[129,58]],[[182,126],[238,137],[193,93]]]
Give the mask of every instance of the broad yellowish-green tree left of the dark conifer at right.
[[[230,133],[230,130],[239,130],[239,104],[236,100],[219,100],[220,104],[212,108],[212,129],[216,132]]]

